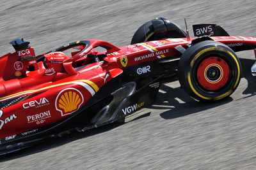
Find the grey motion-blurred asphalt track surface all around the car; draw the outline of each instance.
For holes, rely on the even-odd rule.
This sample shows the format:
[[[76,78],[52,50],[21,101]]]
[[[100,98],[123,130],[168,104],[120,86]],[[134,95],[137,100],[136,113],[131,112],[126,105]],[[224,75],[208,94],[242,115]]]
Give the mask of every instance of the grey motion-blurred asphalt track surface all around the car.
[[[15,38],[36,54],[81,39],[128,45],[155,17],[184,27],[219,24],[233,36],[256,36],[256,4],[248,1],[10,1],[1,0],[1,55]],[[52,139],[0,158],[0,169],[256,169],[256,78],[252,51],[237,53],[243,78],[225,101],[205,104],[164,83],[156,103],[84,133]]]

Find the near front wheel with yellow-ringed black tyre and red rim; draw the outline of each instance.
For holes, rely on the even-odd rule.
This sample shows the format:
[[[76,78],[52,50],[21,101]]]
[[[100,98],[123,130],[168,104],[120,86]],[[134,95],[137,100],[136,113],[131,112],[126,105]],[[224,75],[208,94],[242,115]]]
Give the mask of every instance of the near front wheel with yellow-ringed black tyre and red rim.
[[[218,101],[230,96],[239,85],[241,64],[234,51],[216,41],[190,46],[180,57],[181,87],[200,101]]]

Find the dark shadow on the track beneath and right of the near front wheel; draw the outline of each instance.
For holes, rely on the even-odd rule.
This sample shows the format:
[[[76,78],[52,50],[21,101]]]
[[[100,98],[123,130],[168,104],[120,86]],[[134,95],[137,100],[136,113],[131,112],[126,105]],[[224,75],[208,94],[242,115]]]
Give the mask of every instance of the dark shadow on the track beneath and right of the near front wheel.
[[[255,60],[252,59],[240,59],[242,65],[241,78],[245,78],[248,81],[248,86],[243,91],[243,94],[250,94],[250,96],[243,97],[241,99],[252,97],[256,94],[256,78],[251,74],[251,67]],[[164,119],[172,119],[178,117],[184,117],[196,113],[198,111],[206,111],[210,108],[215,108],[226,103],[233,101],[232,97],[227,97],[227,99],[214,102],[214,103],[202,103],[191,98],[180,88],[173,89],[172,87],[162,85],[161,90],[164,93],[159,92],[157,96],[157,101],[150,108],[166,110],[160,114]]]

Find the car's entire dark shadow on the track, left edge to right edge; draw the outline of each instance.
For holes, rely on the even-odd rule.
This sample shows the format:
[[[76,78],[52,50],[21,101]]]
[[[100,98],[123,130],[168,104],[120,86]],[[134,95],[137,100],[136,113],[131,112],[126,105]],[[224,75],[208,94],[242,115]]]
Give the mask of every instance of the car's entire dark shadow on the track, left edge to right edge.
[[[242,78],[245,78],[248,81],[248,87],[243,91],[243,94],[251,94],[250,96],[253,96],[256,94],[256,88],[255,88],[256,78],[254,78],[250,73],[250,68],[255,60],[250,60],[250,59],[240,59],[240,60],[241,60],[242,70],[243,70]],[[177,81],[177,78],[170,78],[168,82],[170,81],[171,82]],[[247,97],[250,97],[250,96],[247,96]],[[232,97],[228,97],[227,99],[216,102],[216,103],[202,103],[189,97],[188,94],[184,92],[184,90],[180,89],[180,87],[172,88],[163,84],[161,85],[161,91],[157,96],[156,102],[154,103],[154,105],[149,106],[148,108],[157,109],[157,110],[167,109],[168,111],[164,111],[163,113],[160,114],[160,116],[164,119],[172,119],[172,118],[184,117],[186,115],[197,113],[198,111],[206,111],[210,108],[214,108],[226,103],[230,103],[231,101],[233,101]],[[140,117],[134,118],[131,121],[136,121],[140,118],[145,118],[148,116],[150,116],[150,112],[140,115]],[[49,141],[45,141],[44,143],[40,143],[38,145],[25,148],[18,152],[13,152],[7,155],[3,155],[0,157],[0,162],[12,160],[12,159],[18,159],[20,157],[32,155],[34,153],[50,150],[51,148],[56,148],[58,146],[65,145],[72,141],[76,141],[89,136],[110,131],[112,129],[115,129],[116,127],[119,127],[120,125],[122,124],[114,123],[114,124],[98,127],[97,129],[90,129],[86,132],[72,132],[72,134],[65,135],[61,138],[58,138],[58,137],[52,138]]]

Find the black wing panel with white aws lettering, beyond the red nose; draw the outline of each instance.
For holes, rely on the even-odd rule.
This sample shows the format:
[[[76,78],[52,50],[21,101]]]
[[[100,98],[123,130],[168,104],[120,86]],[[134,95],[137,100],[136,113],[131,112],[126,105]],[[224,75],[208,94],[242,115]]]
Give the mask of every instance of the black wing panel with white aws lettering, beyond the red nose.
[[[220,25],[216,24],[196,24],[193,25],[194,35],[200,36],[229,36]]]

